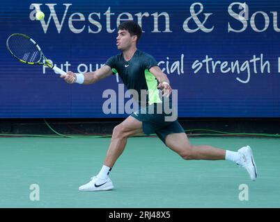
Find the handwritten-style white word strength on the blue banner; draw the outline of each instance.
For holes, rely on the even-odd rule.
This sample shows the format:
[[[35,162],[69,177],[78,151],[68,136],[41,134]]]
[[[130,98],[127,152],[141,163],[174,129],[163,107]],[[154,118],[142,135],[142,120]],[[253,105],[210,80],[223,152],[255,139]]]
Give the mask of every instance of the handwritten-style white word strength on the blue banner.
[[[251,68],[253,65],[253,70]],[[199,71],[205,67],[205,71],[203,73],[206,74],[215,74],[216,71],[221,74],[232,73],[234,74],[235,71],[237,74],[242,74],[244,72],[247,76],[245,79],[241,79],[239,77],[236,78],[240,83],[249,83],[251,78],[251,73],[258,74],[258,70],[260,74],[270,74],[270,62],[263,60],[263,53],[260,54],[260,57],[253,56],[251,60],[245,60],[244,62],[240,62],[239,60],[235,60],[235,62],[228,62],[228,61],[220,61],[220,60],[213,60],[213,58],[209,57],[208,55],[205,56],[203,60],[195,60],[192,64],[192,69],[194,69],[194,74],[198,74]]]

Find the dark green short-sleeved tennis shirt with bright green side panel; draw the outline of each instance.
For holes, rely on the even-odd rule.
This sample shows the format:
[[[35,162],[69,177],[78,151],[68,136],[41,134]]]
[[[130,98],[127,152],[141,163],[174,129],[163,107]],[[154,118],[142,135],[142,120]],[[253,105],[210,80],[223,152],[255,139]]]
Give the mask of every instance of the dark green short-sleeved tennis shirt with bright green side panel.
[[[151,67],[157,66],[157,61],[153,56],[137,49],[129,61],[126,61],[123,53],[120,53],[109,58],[105,65],[111,67],[115,74],[118,73],[127,89],[137,91],[139,103],[140,99],[144,97],[141,97],[141,93],[143,94],[143,91],[141,92],[142,89],[147,90],[146,103],[149,105],[152,103],[162,103],[159,96],[160,92],[157,89],[157,79],[149,71]]]

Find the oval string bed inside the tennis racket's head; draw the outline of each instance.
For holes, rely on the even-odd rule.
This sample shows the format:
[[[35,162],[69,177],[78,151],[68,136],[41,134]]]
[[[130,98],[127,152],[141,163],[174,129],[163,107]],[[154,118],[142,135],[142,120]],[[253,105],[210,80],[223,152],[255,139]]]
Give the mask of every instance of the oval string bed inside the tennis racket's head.
[[[37,46],[22,35],[13,35],[8,40],[8,47],[14,56],[26,62],[39,62],[41,53]]]

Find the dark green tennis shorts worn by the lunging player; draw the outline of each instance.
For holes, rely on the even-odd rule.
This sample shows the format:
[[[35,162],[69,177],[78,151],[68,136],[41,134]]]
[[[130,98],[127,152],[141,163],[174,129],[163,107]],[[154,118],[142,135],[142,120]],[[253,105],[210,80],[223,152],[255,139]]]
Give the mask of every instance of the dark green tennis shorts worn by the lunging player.
[[[151,113],[151,110],[154,110],[154,112]],[[159,113],[157,110],[157,103],[153,103],[146,106],[146,108],[133,112],[131,116],[143,123],[142,128],[146,135],[155,133],[165,145],[167,135],[171,133],[185,133],[177,118],[173,121],[166,121],[167,117],[171,117],[171,113],[166,114],[164,111]]]

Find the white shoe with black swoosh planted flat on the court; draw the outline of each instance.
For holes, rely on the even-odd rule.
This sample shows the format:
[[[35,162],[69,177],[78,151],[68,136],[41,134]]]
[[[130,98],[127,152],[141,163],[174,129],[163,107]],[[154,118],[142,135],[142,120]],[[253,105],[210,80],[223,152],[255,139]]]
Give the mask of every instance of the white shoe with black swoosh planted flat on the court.
[[[79,187],[79,191],[101,191],[114,189],[114,185],[111,182],[110,178],[102,180],[97,176],[91,178],[91,181]]]

